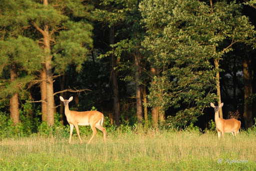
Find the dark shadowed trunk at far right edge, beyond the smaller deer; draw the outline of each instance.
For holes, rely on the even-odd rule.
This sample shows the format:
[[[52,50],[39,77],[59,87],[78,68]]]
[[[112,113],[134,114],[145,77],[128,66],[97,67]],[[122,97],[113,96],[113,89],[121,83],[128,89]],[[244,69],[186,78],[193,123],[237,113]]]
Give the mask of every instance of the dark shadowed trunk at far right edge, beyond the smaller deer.
[[[243,85],[244,85],[244,110],[243,118],[245,128],[250,128],[253,125],[252,120],[252,104],[249,100],[252,94],[252,73],[251,73],[251,58],[246,54],[243,60]]]

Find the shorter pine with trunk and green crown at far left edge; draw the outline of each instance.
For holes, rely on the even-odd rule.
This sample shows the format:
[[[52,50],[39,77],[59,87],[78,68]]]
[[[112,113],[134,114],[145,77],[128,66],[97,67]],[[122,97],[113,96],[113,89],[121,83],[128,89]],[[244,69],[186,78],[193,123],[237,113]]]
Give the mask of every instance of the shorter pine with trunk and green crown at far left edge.
[[[40,68],[39,52],[37,43],[26,37],[0,40],[0,73],[3,70],[10,73],[10,78],[6,78],[8,84],[0,90],[0,98],[10,97],[10,118],[14,124],[19,122],[18,96],[27,95],[29,83],[35,79],[33,73]]]

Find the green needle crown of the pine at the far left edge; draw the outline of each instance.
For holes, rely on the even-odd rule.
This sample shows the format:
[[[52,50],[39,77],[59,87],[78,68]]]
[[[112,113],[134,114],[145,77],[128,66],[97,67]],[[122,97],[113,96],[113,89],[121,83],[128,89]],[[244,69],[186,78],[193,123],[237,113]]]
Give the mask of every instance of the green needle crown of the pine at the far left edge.
[[[19,93],[21,97],[27,95],[26,88],[35,79],[32,74],[41,68],[40,51],[38,44],[27,37],[0,40],[0,76],[4,78],[1,73],[9,72],[12,65],[19,71],[16,80],[0,85],[0,98],[10,97],[14,93]]]

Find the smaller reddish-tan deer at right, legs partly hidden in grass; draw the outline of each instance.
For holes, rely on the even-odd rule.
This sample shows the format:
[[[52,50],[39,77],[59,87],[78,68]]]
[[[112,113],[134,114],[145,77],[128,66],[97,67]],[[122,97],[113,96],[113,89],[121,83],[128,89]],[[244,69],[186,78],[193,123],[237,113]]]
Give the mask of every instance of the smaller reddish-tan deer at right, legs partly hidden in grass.
[[[239,129],[241,127],[241,122],[237,119],[222,119],[219,118],[219,108],[221,108],[224,104],[221,103],[219,106],[214,106],[213,103],[210,103],[210,106],[214,108],[215,116],[215,126],[218,133],[218,139],[220,139],[220,133],[222,134],[222,138],[224,138],[224,133],[231,133],[233,137],[237,135]]]

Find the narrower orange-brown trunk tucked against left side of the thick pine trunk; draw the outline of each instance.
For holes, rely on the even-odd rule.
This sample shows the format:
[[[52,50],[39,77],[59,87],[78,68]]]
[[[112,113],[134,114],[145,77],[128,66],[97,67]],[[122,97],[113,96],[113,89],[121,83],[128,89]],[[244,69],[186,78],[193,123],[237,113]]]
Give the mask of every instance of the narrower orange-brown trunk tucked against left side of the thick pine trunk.
[[[40,74],[40,91],[41,91],[41,113],[42,113],[42,121],[46,122],[47,121],[47,85],[46,85],[46,71],[45,71],[45,66],[43,66],[43,70],[41,71]]]

